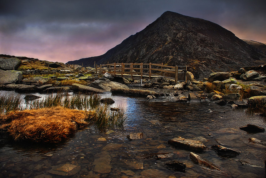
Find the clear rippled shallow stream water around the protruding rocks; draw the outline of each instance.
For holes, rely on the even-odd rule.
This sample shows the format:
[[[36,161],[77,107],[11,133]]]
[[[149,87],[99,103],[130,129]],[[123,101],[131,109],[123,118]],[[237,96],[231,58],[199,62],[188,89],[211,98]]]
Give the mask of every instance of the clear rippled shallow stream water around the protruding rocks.
[[[125,108],[128,119],[123,128],[99,132],[90,126],[59,145],[2,142],[0,177],[62,177],[50,170],[64,164],[78,165],[70,177],[265,177],[266,147],[248,141],[251,137],[266,141],[265,132],[248,134],[239,129],[246,124],[266,128],[263,117],[208,101],[180,104],[163,99],[146,101],[144,98],[102,94],[102,98],[105,97],[115,100],[113,107]],[[207,112],[207,109],[213,112]],[[143,132],[146,138],[126,138],[130,133],[139,132]],[[219,144],[241,153],[232,158],[218,156],[213,150],[196,152],[222,171],[210,170],[192,162],[189,150],[168,145],[169,139],[178,136],[189,139],[201,136],[206,139],[202,142],[207,147]],[[106,141],[98,141],[101,137]],[[164,159],[147,156],[152,153],[172,154]],[[167,169],[164,164],[171,160],[184,162],[186,171]],[[242,165],[239,160],[258,166]]]

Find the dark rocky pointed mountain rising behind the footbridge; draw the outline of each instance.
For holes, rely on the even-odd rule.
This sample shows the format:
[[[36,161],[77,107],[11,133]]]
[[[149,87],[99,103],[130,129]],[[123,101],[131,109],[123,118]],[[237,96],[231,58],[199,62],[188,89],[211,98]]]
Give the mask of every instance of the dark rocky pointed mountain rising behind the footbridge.
[[[202,79],[211,72],[264,64],[266,55],[216,23],[166,11],[105,54],[68,64],[94,65],[94,61],[187,65],[195,78]]]

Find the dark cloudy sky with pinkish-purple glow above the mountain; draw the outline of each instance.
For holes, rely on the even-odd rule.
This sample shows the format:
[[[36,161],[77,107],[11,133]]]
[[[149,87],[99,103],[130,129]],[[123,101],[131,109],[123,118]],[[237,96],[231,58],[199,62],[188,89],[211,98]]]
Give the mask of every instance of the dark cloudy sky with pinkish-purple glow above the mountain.
[[[68,62],[104,54],[165,11],[266,43],[265,0],[1,0],[0,54]]]

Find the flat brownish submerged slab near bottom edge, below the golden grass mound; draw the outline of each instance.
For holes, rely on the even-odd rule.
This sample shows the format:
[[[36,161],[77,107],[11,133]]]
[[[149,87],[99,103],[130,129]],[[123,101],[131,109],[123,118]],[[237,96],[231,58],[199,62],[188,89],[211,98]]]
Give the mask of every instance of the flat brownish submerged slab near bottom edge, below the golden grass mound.
[[[80,169],[81,167],[78,165],[60,164],[52,166],[52,169],[48,172],[56,175],[75,175],[79,172]]]

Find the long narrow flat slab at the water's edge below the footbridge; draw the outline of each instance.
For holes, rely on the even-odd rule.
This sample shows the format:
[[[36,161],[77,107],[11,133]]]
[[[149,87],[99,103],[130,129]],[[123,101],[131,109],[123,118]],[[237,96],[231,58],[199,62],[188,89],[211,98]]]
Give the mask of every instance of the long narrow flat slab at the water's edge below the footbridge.
[[[155,97],[161,96],[160,94],[156,93],[155,91],[141,90],[141,89],[112,88],[111,92],[113,94],[127,94],[127,95],[146,96],[146,97],[148,95],[154,95]]]

